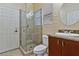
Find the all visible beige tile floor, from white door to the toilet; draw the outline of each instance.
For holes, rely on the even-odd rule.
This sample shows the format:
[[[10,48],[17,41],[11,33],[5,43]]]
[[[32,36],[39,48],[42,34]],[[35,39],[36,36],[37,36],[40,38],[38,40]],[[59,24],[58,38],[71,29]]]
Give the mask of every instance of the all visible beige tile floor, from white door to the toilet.
[[[20,51],[20,49],[14,49],[8,52],[1,53],[0,56],[23,56],[23,53]],[[36,55],[32,52],[24,56],[36,56]],[[47,56],[47,54],[45,56]]]

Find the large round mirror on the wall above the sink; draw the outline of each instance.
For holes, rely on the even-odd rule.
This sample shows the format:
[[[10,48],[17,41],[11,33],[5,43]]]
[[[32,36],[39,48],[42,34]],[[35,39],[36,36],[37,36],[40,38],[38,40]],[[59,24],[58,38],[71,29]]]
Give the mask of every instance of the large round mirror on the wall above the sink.
[[[73,25],[79,21],[79,4],[64,3],[60,8],[60,18],[63,24]]]

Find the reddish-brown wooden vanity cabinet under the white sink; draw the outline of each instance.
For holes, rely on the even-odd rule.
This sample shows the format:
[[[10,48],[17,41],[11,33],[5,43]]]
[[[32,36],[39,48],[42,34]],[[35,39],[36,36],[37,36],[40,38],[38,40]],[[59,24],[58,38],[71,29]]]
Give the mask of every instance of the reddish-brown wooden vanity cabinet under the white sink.
[[[49,35],[49,56],[79,56],[79,41]]]

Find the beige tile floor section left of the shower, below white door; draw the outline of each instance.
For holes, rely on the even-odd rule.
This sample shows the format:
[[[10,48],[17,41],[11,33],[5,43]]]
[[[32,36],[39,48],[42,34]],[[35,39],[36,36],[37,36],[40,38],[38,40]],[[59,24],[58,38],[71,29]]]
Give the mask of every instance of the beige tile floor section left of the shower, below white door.
[[[23,56],[23,54],[19,49],[15,49],[5,53],[1,53],[0,56]]]

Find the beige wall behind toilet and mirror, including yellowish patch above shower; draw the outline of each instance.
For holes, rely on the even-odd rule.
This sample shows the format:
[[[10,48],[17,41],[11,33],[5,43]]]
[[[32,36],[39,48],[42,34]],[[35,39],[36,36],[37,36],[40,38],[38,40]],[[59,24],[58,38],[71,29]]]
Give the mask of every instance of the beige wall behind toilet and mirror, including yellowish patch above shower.
[[[42,7],[43,4],[35,4],[35,9],[37,10]],[[74,29],[78,30],[79,29],[79,22],[76,24],[66,26],[64,25],[61,20],[60,20],[60,8],[62,6],[62,3],[54,3],[53,4],[53,16],[52,16],[52,24],[51,25],[43,25],[43,34],[54,34],[56,33],[59,29]]]

